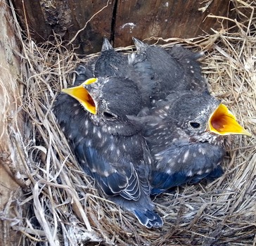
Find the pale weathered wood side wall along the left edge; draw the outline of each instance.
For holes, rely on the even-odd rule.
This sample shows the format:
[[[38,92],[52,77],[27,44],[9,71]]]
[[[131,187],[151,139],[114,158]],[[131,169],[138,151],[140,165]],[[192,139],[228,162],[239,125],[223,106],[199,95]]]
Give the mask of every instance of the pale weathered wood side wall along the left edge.
[[[20,93],[20,44],[7,1],[0,1],[0,245],[18,245],[20,233],[10,226],[21,188],[15,181],[22,169],[13,134],[23,135],[24,122],[18,110]]]

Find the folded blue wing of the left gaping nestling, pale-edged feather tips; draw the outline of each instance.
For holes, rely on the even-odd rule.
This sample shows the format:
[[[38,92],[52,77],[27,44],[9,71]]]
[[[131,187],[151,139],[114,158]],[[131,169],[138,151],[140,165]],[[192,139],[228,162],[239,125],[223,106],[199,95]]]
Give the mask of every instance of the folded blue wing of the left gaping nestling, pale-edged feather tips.
[[[118,165],[111,163],[96,148],[88,147],[86,141],[83,139],[75,148],[75,154],[79,163],[83,163],[84,171],[96,179],[106,195],[121,195],[129,200],[138,200],[141,190],[133,164],[125,160]]]

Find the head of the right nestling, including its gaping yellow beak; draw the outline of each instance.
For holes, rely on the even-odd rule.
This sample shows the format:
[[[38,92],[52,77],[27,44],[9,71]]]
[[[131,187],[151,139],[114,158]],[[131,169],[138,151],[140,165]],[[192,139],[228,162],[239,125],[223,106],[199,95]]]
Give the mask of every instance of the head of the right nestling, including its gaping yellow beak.
[[[232,112],[209,93],[187,91],[171,93],[168,98],[171,98],[165,106],[168,117],[196,141],[211,141],[217,136],[232,134],[251,136]]]

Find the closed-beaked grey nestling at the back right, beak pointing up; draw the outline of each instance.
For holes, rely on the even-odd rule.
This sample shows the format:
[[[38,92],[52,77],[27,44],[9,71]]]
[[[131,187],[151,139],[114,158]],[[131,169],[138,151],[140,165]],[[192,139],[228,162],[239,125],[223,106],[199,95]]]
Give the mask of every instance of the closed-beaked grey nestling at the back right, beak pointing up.
[[[182,46],[174,46],[168,53],[160,46],[148,45],[136,38],[133,40],[136,53],[129,54],[129,63],[135,72],[153,72],[153,99],[163,99],[171,91],[207,89],[197,61],[203,53],[193,53]]]

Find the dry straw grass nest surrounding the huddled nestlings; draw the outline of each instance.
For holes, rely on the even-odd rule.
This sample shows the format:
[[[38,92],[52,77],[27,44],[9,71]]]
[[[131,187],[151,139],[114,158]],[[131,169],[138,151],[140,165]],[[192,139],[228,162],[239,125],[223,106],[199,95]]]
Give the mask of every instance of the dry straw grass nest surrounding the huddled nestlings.
[[[253,14],[253,8],[249,9]],[[167,39],[162,46],[181,44],[205,51],[201,63],[210,92],[255,134],[256,26],[252,16],[233,21],[229,30],[193,39]],[[25,118],[25,135],[15,139],[23,156],[25,181],[25,193],[15,209],[20,244],[256,245],[255,136],[233,138],[221,178],[158,195],[153,202],[164,221],[162,228],[141,226],[132,214],[99,194],[94,180],[77,164],[52,112],[57,94],[74,82],[72,71],[77,64],[98,54],[81,58],[75,48],[65,48],[58,36],[39,45],[18,32],[23,47]],[[133,48],[117,50],[128,53]]]

